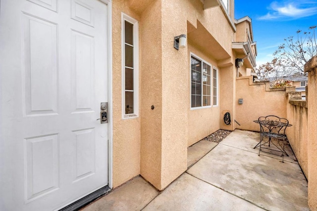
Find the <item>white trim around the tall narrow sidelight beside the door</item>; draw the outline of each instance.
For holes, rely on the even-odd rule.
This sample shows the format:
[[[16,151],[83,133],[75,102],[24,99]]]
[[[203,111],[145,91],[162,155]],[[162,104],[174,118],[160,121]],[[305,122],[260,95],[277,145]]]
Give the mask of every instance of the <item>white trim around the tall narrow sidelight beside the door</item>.
[[[124,53],[124,21],[133,24],[133,114],[125,114],[125,53]],[[121,12],[121,95],[122,119],[139,117],[139,22]]]

